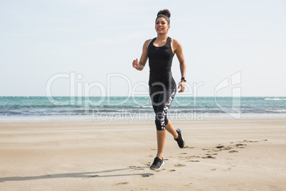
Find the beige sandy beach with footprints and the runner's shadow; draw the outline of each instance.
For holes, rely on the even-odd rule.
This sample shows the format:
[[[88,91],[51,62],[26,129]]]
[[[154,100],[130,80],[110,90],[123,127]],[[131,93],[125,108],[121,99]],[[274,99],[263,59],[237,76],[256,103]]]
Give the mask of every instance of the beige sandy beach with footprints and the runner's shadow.
[[[286,190],[286,119],[1,122],[0,190]]]

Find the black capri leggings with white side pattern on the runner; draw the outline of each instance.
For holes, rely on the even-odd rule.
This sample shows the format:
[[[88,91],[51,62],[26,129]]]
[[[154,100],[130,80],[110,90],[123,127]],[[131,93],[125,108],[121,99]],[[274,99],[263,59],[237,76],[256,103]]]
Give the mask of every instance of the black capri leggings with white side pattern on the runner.
[[[166,130],[169,120],[166,113],[176,94],[176,86],[162,88],[162,86],[149,86],[149,95],[156,114],[155,124],[157,130]]]

